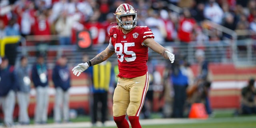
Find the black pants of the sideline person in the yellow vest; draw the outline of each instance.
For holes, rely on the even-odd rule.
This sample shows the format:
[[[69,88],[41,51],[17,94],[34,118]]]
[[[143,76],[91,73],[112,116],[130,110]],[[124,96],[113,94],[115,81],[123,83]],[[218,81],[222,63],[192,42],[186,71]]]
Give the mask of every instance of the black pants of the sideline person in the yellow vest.
[[[98,119],[98,103],[101,103],[101,122],[106,121],[106,116],[108,112],[108,92],[94,93],[93,94],[93,105],[92,105],[92,124],[95,124]]]

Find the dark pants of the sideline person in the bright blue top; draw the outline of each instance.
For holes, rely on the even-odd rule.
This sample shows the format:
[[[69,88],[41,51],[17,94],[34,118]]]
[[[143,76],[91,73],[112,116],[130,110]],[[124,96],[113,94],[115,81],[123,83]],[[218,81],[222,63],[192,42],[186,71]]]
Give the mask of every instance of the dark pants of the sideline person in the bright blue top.
[[[186,100],[186,86],[174,85],[173,117],[182,118]]]

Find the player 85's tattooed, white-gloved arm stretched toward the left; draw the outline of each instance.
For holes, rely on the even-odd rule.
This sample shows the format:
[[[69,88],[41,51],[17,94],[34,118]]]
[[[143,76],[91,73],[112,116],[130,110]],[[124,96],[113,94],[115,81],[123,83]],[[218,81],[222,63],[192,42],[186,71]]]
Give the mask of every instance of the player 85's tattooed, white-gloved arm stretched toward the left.
[[[77,66],[75,66],[72,71],[73,74],[76,76],[79,76],[82,72],[84,72],[86,69],[88,69],[90,66],[94,66],[96,64],[100,64],[101,62],[107,60],[110,56],[112,56],[115,53],[115,51],[110,50],[108,47],[100,52],[98,55],[96,55],[92,60],[86,62],[86,63],[80,63]]]

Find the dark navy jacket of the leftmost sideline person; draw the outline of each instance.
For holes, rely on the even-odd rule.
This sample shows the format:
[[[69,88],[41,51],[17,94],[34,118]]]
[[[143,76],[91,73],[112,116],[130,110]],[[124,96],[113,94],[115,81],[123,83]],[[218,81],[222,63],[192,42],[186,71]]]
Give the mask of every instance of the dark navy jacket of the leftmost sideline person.
[[[13,66],[0,69],[0,96],[6,96],[10,90],[17,90],[17,76]]]

